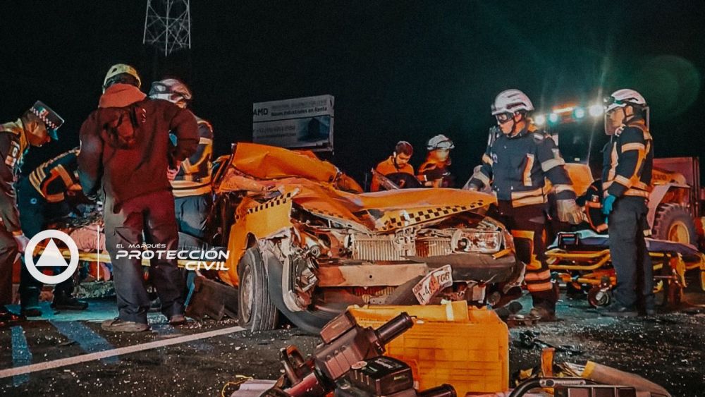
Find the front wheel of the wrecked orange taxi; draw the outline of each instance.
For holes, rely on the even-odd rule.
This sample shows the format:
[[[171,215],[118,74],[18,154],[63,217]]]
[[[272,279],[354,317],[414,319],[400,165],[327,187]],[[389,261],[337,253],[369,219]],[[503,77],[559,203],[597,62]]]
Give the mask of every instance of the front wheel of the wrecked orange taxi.
[[[269,297],[269,286],[262,255],[257,248],[250,248],[238,264],[240,296],[238,323],[250,331],[276,329],[279,312]]]

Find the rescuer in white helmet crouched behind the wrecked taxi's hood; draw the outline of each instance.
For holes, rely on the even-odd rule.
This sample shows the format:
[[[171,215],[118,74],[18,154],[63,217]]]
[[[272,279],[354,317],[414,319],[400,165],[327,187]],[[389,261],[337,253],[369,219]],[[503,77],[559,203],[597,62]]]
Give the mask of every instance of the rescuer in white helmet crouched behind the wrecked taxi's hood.
[[[421,166],[417,178],[422,185],[429,188],[453,188],[455,177],[450,173],[450,149],[453,141],[446,135],[439,134],[429,139],[426,149],[429,151]]]

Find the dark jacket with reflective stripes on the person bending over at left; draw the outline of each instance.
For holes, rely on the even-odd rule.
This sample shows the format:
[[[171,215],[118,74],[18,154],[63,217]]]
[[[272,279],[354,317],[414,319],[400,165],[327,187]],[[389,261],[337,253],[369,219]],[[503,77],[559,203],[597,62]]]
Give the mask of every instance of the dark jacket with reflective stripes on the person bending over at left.
[[[30,184],[47,202],[63,202],[68,190],[80,193],[78,151],[76,147],[59,154],[30,173]]]

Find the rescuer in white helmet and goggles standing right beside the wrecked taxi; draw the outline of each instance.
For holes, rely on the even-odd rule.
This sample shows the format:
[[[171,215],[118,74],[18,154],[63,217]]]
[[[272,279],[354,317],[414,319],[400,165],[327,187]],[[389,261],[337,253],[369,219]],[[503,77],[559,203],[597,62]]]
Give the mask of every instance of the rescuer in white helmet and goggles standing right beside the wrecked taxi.
[[[579,224],[582,210],[575,204],[575,191],[556,142],[529,118],[534,110],[529,97],[520,90],[505,90],[491,110],[498,128],[491,128],[482,165],[468,186],[480,190],[489,185],[494,190],[495,216],[511,231],[517,257],[527,266],[525,283],[534,303],[529,316],[553,321],[558,293],[544,256],[546,178],[556,193],[560,221]]]

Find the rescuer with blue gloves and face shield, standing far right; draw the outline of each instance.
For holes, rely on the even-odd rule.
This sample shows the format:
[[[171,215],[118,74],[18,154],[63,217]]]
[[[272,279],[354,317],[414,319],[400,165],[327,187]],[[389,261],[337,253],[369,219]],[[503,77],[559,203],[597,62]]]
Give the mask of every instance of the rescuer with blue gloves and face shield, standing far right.
[[[602,212],[608,216],[612,265],[617,272],[614,302],[603,314],[633,317],[639,310],[655,314],[654,276],[646,250],[654,142],[649,133],[649,106],[639,92],[618,90],[606,99],[603,149]]]

